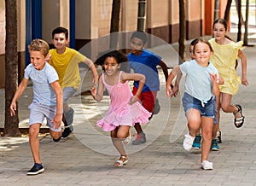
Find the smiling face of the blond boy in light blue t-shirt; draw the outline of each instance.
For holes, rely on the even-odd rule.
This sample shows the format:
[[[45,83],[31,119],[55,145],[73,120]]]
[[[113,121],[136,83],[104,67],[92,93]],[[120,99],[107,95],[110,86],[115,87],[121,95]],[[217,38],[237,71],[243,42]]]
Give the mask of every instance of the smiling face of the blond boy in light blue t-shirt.
[[[42,70],[45,66],[45,56],[40,51],[30,51],[30,62],[37,70]]]

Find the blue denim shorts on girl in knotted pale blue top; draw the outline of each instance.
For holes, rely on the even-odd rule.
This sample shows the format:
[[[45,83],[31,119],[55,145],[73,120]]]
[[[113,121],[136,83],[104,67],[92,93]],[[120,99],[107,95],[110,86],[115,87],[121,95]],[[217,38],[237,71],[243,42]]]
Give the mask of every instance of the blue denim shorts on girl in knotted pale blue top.
[[[212,98],[208,100],[207,103],[204,103],[204,107],[203,107],[200,100],[196,99],[193,96],[190,96],[188,93],[185,92],[182,101],[183,101],[183,108],[185,113],[190,108],[195,108],[199,110],[199,112],[201,113],[201,116],[214,118]]]

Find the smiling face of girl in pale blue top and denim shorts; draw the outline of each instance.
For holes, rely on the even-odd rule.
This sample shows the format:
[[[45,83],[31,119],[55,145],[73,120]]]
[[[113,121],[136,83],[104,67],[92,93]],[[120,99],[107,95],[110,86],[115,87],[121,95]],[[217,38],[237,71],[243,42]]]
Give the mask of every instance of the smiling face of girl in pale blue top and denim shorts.
[[[211,55],[212,55],[212,51],[207,44],[204,44],[204,43],[195,44],[195,60],[199,64],[204,64],[207,66]]]

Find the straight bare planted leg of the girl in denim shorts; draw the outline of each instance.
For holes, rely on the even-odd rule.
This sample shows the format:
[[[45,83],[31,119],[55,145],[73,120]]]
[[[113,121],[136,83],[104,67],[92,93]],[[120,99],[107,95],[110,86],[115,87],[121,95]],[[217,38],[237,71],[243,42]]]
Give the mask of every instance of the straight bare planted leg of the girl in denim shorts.
[[[201,117],[201,134],[202,134],[202,144],[201,144],[201,162],[208,160],[208,155],[210,153],[210,148],[212,144],[212,127],[213,119],[210,117]]]

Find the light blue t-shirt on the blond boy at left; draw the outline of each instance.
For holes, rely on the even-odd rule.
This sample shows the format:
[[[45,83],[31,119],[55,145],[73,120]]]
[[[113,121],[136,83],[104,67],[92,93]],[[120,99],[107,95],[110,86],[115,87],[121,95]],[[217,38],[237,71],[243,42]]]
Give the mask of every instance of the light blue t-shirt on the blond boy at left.
[[[56,105],[56,94],[51,83],[59,80],[55,68],[45,62],[42,70],[37,70],[30,63],[25,69],[25,78],[31,78],[33,84],[33,101],[46,106]]]

